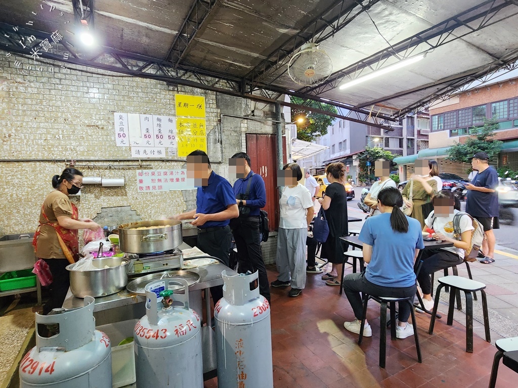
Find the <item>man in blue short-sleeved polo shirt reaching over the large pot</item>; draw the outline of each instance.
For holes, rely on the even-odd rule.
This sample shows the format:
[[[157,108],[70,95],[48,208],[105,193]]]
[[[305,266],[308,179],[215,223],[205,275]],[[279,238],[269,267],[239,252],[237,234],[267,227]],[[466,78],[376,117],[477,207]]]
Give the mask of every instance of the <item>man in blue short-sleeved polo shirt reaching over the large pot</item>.
[[[234,190],[225,178],[212,171],[209,157],[203,151],[193,151],[187,156],[187,176],[198,186],[196,209],[170,218],[194,218],[191,224],[198,228],[196,246],[228,265],[232,244],[228,223],[239,216]],[[210,293],[215,305],[223,297],[223,288],[211,287]]]

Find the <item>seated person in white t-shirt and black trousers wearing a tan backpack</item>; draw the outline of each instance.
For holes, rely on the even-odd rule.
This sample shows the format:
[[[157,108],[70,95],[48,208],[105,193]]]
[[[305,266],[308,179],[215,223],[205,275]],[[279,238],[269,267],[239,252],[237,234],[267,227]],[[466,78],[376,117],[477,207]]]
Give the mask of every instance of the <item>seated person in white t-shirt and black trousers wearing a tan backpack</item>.
[[[434,300],[431,297],[430,275],[436,271],[450,268],[454,265],[461,264],[464,261],[465,249],[471,244],[471,233],[473,228],[471,217],[467,214],[461,216],[459,220],[459,228],[461,229],[461,240],[457,240],[453,236],[454,226],[453,217],[461,208],[452,192],[449,190],[441,190],[433,199],[434,210],[425,220],[425,228],[433,229],[432,235],[435,240],[449,241],[453,243],[451,248],[430,249],[423,251],[422,259],[424,260],[421,271],[418,274],[418,282],[423,291],[424,307],[430,311],[434,308]],[[417,309],[418,312],[422,310]]]

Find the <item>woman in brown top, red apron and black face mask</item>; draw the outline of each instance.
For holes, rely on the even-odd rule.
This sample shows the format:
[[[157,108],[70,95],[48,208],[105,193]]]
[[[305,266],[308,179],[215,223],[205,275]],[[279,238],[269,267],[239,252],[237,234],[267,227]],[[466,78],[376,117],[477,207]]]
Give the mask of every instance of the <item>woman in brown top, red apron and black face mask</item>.
[[[63,170],[52,177],[53,190],[41,205],[39,226],[34,234],[36,257],[45,260],[52,274],[51,298],[43,309],[47,315],[53,308],[63,305],[70,287],[66,266],[78,260],[78,230],[100,228],[90,219],[79,219],[76,205],[69,195],[79,192],[83,174],[74,168]]]

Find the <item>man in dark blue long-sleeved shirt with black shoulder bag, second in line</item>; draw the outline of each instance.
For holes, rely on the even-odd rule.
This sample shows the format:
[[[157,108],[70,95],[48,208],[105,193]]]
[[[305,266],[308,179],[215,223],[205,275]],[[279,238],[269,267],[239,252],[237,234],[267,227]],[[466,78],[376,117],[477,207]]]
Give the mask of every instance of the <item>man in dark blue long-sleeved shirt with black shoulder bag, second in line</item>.
[[[261,252],[259,228],[259,211],[266,205],[263,177],[251,170],[250,157],[244,152],[235,154],[228,165],[238,178],[234,182],[234,194],[239,205],[239,217],[230,223],[236,242],[238,270],[240,273],[258,271],[259,292],[270,302],[270,283]]]

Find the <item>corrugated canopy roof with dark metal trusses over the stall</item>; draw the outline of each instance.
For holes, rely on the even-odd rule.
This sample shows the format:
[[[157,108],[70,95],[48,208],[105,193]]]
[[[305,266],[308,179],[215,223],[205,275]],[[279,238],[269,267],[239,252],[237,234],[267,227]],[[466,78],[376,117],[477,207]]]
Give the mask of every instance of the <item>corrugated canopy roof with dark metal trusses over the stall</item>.
[[[196,74],[210,74],[240,93],[275,99],[286,93],[367,112],[383,107],[395,117],[498,68],[514,66],[517,13],[514,0],[96,0],[101,47],[86,52],[69,45],[75,54],[69,60],[100,63],[111,50],[118,56],[104,58],[100,68],[139,75],[150,69],[160,74],[161,66],[171,65],[180,70],[175,77],[191,82],[197,81]],[[0,22],[0,43],[13,52],[25,52],[13,25],[30,34],[59,31],[64,41],[74,39],[67,33],[74,24],[71,0],[4,2]],[[286,64],[308,41],[320,43],[333,70],[324,83],[301,87],[288,76]],[[338,88],[425,52],[420,62],[387,76]],[[153,65],[126,61],[126,54]],[[63,50],[41,55],[60,58]]]

